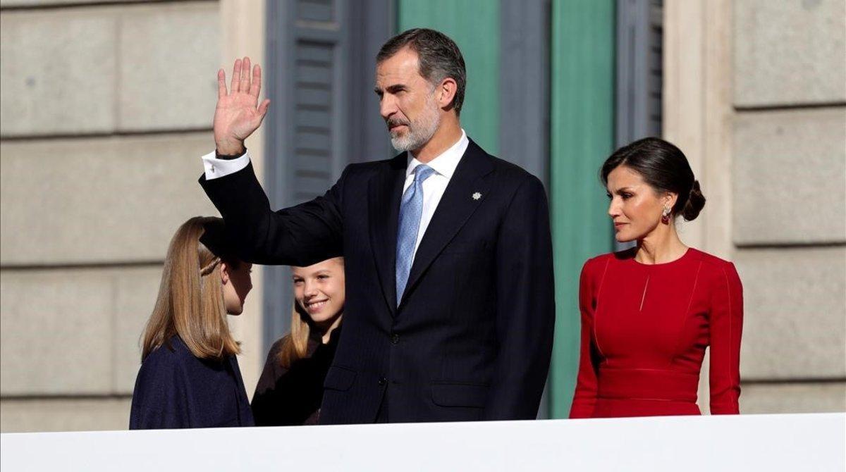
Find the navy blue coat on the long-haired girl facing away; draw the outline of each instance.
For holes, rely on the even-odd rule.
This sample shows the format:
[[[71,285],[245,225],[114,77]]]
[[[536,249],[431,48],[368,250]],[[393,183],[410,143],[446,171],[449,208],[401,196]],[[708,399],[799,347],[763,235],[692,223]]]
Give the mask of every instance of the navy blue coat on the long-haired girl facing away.
[[[141,364],[130,430],[254,425],[235,356],[198,359],[179,336],[167,344]]]

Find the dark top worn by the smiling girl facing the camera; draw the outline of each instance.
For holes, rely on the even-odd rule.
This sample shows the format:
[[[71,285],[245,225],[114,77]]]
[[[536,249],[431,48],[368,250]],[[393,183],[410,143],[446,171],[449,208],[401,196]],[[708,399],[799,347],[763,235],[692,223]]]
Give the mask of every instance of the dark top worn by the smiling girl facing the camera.
[[[341,327],[321,343],[320,336],[309,339],[305,358],[299,359],[290,369],[279,364],[278,354],[282,340],[273,343],[267,354],[253,395],[255,425],[315,425],[323,400],[323,380],[335,357]]]

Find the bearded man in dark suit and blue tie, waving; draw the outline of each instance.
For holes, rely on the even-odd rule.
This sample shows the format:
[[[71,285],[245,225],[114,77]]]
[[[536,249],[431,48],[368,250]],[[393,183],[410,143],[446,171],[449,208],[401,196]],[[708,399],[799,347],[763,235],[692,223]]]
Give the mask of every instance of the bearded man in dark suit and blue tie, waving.
[[[218,72],[216,153],[201,185],[260,264],[343,254],[343,335],[323,424],[527,420],[552,352],[552,242],[541,182],[461,129],[464,58],[408,30],[376,58],[376,94],[401,154],[347,167],[326,195],[272,211],[244,139],[261,124],[261,69]]]

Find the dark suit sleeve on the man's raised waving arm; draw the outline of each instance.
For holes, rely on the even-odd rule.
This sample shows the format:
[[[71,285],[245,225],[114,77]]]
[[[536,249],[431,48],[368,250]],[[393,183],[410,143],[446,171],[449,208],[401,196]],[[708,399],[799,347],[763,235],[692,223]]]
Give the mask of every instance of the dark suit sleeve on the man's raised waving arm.
[[[200,184],[226,222],[239,257],[256,264],[310,266],[343,253],[341,195],[345,170],[325,195],[272,211],[252,164]]]

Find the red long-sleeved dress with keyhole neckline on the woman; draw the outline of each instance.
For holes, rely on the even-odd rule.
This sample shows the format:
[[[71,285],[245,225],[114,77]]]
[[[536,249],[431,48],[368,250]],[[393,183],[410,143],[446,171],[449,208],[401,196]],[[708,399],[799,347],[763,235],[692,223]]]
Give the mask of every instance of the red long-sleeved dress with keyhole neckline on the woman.
[[[570,418],[700,414],[711,346],[711,414],[737,414],[743,288],[731,262],[690,248],[645,265],[634,249],[582,269],[581,359]]]

